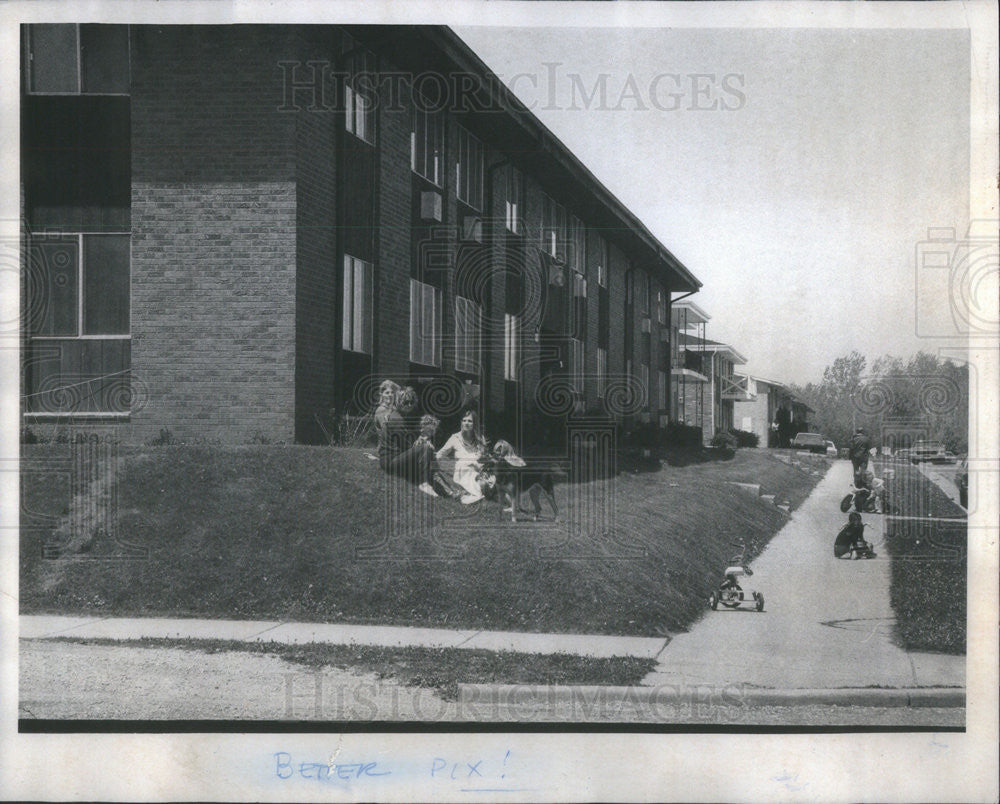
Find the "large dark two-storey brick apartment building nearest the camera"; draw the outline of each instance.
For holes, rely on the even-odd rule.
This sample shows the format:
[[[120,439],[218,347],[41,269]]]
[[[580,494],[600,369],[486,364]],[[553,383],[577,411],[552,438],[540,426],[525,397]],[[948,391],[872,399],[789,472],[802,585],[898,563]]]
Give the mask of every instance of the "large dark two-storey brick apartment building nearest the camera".
[[[29,25],[22,57],[32,427],[316,443],[382,377],[527,447],[676,411],[700,282],[449,29]]]

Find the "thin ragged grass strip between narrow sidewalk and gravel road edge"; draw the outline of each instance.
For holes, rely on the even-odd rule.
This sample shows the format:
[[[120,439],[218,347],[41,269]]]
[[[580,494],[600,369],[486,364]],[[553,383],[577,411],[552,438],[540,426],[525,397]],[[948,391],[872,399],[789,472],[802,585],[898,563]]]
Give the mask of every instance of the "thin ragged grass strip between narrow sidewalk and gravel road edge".
[[[656,667],[655,659],[616,656],[593,659],[566,653],[535,654],[462,648],[386,648],[367,645],[286,645],[218,639],[73,639],[59,642],[115,647],[182,648],[205,653],[241,651],[277,656],[313,670],[333,667],[375,673],[410,687],[433,689],[458,699],[459,684],[548,684],[634,686]]]

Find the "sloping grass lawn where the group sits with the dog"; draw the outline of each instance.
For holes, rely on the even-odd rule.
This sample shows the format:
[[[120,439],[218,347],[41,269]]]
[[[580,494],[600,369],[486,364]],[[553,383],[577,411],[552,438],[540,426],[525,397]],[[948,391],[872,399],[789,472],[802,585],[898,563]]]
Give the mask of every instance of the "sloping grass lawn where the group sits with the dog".
[[[738,450],[559,484],[564,519],[598,523],[589,529],[387,493],[361,450],[332,447],[122,447],[116,483],[71,497],[71,449],[24,448],[23,613],[646,636],[685,630],[735,543],[752,559],[785,523],[728,481],[794,508],[829,465]]]

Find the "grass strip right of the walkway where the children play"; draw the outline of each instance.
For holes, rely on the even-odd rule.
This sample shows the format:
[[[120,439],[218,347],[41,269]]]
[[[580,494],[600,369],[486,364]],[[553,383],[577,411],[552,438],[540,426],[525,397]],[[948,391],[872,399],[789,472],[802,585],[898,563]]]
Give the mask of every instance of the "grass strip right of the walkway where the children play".
[[[893,512],[934,520],[886,522],[897,636],[908,650],[965,653],[968,523],[965,512],[913,466],[893,464]],[[943,518],[954,518],[952,521]]]

